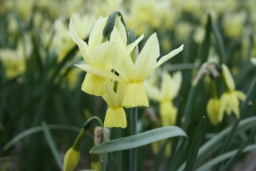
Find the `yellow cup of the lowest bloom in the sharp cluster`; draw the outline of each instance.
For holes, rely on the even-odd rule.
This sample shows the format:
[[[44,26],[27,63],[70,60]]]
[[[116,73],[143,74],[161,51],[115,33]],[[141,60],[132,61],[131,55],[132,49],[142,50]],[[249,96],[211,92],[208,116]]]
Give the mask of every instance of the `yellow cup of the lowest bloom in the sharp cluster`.
[[[106,111],[104,127],[126,128],[126,113],[123,108],[109,108]]]

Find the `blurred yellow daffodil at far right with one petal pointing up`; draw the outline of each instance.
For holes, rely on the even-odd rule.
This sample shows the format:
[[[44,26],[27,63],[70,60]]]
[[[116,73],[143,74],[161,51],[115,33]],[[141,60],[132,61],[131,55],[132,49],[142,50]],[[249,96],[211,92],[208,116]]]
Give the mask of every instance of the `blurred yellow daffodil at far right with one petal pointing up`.
[[[226,92],[220,98],[218,121],[222,121],[224,111],[228,115],[233,111],[236,117],[240,117],[239,100],[244,101],[246,99],[245,93],[235,90],[234,79],[224,64],[222,64],[222,75],[226,84]]]

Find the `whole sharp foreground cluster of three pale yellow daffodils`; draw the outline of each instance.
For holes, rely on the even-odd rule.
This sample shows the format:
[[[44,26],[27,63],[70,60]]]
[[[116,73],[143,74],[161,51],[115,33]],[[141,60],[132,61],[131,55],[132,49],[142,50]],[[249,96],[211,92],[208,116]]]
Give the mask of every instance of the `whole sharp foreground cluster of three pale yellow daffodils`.
[[[71,38],[78,45],[85,64],[76,65],[87,72],[82,90],[95,96],[102,96],[109,105],[104,125],[126,127],[123,107],[149,106],[143,82],[162,63],[183,50],[183,45],[159,58],[157,34],[152,34],[140,53],[136,46],[143,34],[134,42],[128,42],[126,27],[121,18],[115,19],[110,38],[103,35],[109,18],[98,18],[90,33],[88,43],[78,37],[70,20]],[[130,34],[130,33],[129,33]]]

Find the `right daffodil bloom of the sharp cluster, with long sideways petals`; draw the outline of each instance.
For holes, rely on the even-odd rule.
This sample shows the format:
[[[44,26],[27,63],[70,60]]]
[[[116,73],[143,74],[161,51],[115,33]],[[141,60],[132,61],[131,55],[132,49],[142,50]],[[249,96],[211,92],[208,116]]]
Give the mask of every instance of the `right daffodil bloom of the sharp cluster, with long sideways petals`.
[[[182,51],[183,45],[160,58],[157,62],[159,57],[158,38],[156,34],[152,34],[146,41],[140,54],[138,54],[136,61],[133,62],[130,53],[134,50],[134,47],[138,45],[138,42],[142,40],[143,36],[127,46],[126,32],[120,31],[124,28],[122,22],[119,22],[118,28],[119,30],[114,28],[112,31],[110,41],[117,42],[118,49],[121,50],[121,58],[116,65],[114,65],[114,70],[118,72],[119,77],[113,74],[110,70],[102,70],[102,68],[95,65],[86,64],[78,65],[78,67],[88,73],[98,75],[98,77],[110,78],[118,82],[126,83],[124,99],[122,101],[122,105],[126,108],[148,106],[149,102],[143,82],[150,76],[150,74],[154,73],[154,70],[158,68],[158,66],[161,66],[162,63]],[[84,49],[86,50],[86,48]]]

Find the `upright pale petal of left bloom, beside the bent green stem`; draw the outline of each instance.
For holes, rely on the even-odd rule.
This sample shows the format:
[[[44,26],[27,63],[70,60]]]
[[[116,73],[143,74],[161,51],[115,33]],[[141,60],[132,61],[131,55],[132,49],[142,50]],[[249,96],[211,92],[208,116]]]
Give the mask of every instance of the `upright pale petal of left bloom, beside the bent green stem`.
[[[94,50],[98,44],[102,42],[103,30],[106,26],[107,18],[99,18],[97,22],[95,22],[93,30],[90,33],[88,46],[90,48],[90,52]]]

